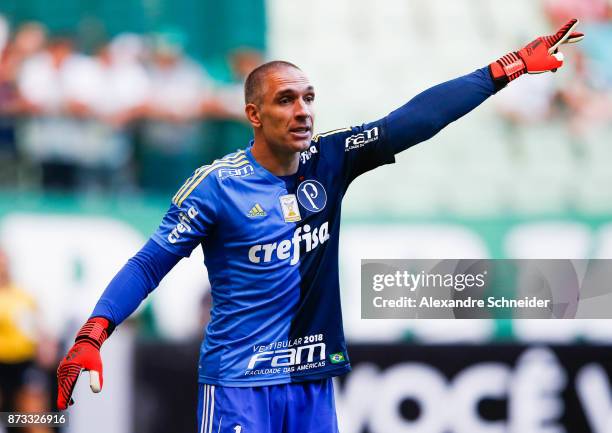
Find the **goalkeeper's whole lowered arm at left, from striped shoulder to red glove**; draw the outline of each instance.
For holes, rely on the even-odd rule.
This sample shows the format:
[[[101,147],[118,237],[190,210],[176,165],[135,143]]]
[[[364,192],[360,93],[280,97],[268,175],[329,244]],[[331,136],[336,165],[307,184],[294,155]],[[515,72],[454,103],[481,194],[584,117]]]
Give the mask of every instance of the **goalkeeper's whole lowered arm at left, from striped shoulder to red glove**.
[[[57,370],[57,407],[72,404],[72,391],[82,370],[89,370],[92,391],[102,389],[100,347],[136,310],[181,257],[204,242],[215,224],[216,177],[196,170],[179,189],[151,240],[117,273],[83,325],[74,346]]]

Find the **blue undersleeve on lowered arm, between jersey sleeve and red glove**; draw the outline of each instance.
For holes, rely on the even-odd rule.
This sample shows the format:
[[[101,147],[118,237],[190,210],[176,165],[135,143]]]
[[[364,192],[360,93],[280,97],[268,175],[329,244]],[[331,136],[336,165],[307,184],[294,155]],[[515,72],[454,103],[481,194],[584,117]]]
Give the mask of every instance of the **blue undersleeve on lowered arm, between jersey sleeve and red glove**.
[[[138,308],[164,276],[182,259],[149,240],[112,279],[91,317],[119,325]]]

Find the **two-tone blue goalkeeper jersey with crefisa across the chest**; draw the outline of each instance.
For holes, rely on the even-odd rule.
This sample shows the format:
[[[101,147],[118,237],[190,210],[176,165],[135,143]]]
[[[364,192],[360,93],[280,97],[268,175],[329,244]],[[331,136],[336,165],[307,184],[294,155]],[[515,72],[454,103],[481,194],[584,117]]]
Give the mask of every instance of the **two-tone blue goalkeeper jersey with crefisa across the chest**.
[[[295,175],[278,177],[250,146],[194,172],[153,240],[189,256],[201,245],[212,287],[201,383],[273,385],[350,370],[338,239],[355,177],[394,162],[385,119],[319,134]]]

